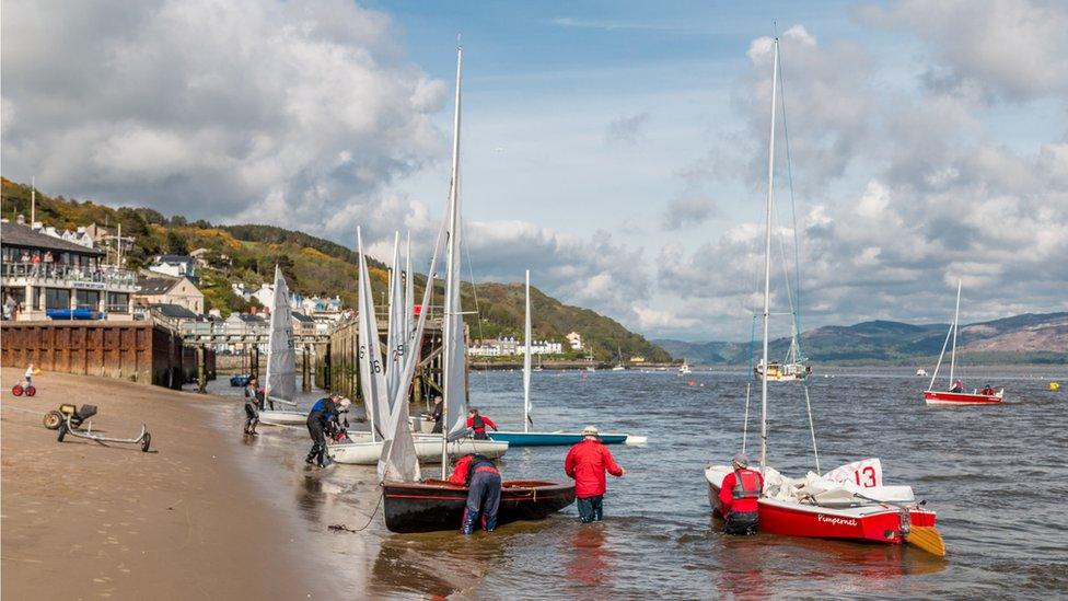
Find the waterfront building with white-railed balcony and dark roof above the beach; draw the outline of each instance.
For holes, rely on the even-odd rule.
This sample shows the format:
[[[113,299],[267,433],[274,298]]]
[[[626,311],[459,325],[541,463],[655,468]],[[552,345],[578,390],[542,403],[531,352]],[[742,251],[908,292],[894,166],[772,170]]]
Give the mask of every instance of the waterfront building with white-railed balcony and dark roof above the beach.
[[[106,265],[102,251],[10,222],[0,247],[4,319],[132,319],[137,276]]]

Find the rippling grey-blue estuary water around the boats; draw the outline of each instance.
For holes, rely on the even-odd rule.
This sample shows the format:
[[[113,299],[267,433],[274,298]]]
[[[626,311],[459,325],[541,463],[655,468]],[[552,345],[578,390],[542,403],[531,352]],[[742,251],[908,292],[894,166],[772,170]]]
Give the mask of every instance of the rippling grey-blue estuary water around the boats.
[[[240,458],[265,499],[311,532],[351,592],[381,597],[710,598],[733,594],[1035,594],[1068,590],[1068,393],[1048,392],[1064,368],[970,370],[965,382],[1003,385],[998,407],[926,407],[926,380],[903,370],[817,374],[811,383],[824,471],[879,456],[887,484],[909,484],[938,511],[949,555],[757,535],[736,539],[710,518],[703,467],[741,447],[742,373],[557,372],[534,374],[538,429],[648,435],[645,448],[612,446],[627,470],[611,478],[606,519],[581,525],[574,507],[492,535],[397,535],[381,512],[371,467],[305,470],[302,429],[268,429]],[[522,374],[472,373],[472,404],[503,427],[521,427]],[[213,392],[236,394],[225,382]],[[800,386],[770,389],[769,463],[787,475],[814,467]],[[756,428],[758,388],[751,406]],[[218,412],[240,431],[240,406]],[[755,431],[755,429],[754,429]],[[240,438],[236,434],[235,439]],[[748,450],[756,455],[756,437]],[[566,448],[513,449],[508,477],[564,478]],[[425,474],[434,467],[425,466]],[[458,524],[457,524],[458,527]]]

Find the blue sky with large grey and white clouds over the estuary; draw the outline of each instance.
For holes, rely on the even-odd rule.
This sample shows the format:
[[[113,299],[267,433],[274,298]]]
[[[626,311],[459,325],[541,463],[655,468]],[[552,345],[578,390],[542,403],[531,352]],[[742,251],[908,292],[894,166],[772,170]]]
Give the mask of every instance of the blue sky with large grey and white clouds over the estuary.
[[[652,338],[1068,310],[1068,3],[5,0],[0,161],[429,263],[457,35],[469,274]],[[783,125],[785,124],[785,125]],[[796,290],[800,281],[800,294]],[[790,320],[773,317],[773,335]]]

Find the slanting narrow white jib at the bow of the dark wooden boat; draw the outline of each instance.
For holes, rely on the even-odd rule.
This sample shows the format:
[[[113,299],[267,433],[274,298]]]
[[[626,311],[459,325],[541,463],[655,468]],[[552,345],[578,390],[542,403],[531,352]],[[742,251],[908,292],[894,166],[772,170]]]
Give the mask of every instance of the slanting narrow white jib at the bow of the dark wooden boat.
[[[438,236],[438,240],[440,243],[441,235]],[[434,269],[438,265],[438,251],[439,244],[436,244],[434,255],[430,262],[430,271],[427,278],[428,285],[422,293],[423,307],[427,307],[430,303],[431,285],[433,282]],[[411,273],[410,261],[408,273]],[[411,340],[414,340],[415,346],[413,346],[413,348],[418,347],[422,340],[422,332],[427,323],[427,311],[420,312],[419,319],[414,320],[415,330],[413,331]],[[380,482],[387,479],[399,482],[418,482],[421,477],[419,472],[419,456],[416,452],[411,429],[408,427],[408,386],[411,384],[411,379],[415,377],[418,362],[418,354],[408,352],[405,355],[404,368],[400,372],[400,383],[403,386],[397,391],[396,396],[393,398],[393,412],[390,414],[390,424],[385,429],[386,440],[382,444],[382,455],[379,458]]]

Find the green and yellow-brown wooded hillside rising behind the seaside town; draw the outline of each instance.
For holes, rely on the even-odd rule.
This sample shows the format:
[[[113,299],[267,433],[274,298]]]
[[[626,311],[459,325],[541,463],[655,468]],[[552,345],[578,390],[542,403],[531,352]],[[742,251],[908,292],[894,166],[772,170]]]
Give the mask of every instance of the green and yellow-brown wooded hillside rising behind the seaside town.
[[[28,217],[30,187],[7,178],[0,178],[0,186],[4,217],[11,220],[19,213]],[[121,223],[123,235],[136,239],[134,251],[125,257],[126,266],[132,269],[146,267],[159,254],[187,254],[195,249],[208,249],[206,258],[211,268],[200,270],[200,289],[207,309],[218,309],[223,315],[249,309],[247,302],[233,293],[231,285],[243,282],[258,287],[272,277],[275,264],[281,265],[292,290],[304,296],[337,294],[345,307],[356,307],[357,253],[303,232],[258,224],[217,227],[202,220],[189,222],[181,216],[165,217],[147,208],[115,209],[89,200],[53,198],[40,190],[37,190],[37,220],[69,230],[94,222],[108,228]],[[378,301],[386,293],[388,273],[385,265],[370,257],[369,267]],[[416,285],[419,296],[426,277],[417,276]],[[440,288],[439,281],[438,298]],[[477,298],[479,314],[464,317],[472,337],[492,338],[499,334],[521,337],[521,285],[479,284],[472,287],[464,282],[462,296],[465,309],[471,311],[475,310]],[[641,355],[650,361],[671,360],[664,349],[610,317],[566,305],[534,288],[531,298],[536,338],[560,340],[567,333],[577,331],[599,360],[612,360],[617,348],[627,357]]]

